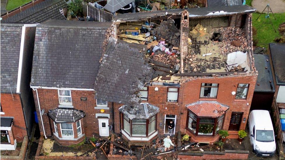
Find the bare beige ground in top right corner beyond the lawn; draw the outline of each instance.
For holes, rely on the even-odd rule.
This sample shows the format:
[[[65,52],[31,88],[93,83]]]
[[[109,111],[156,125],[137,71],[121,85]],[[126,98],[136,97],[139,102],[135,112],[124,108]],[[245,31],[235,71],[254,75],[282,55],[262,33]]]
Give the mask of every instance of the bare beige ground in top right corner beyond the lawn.
[[[256,8],[258,12],[262,12],[268,3],[273,13],[285,12],[285,0],[253,0],[251,5]],[[267,9],[265,11],[267,12]]]

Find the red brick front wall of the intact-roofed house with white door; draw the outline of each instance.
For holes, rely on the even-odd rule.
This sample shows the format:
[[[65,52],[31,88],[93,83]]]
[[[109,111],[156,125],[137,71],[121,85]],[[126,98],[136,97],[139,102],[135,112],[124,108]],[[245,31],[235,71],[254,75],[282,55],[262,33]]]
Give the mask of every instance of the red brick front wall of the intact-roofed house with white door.
[[[39,107],[37,105],[37,95],[34,92],[34,99],[36,103],[36,110],[38,114],[40,130],[42,132],[41,119],[39,115]],[[58,100],[58,90],[57,89],[38,89],[39,102],[41,110],[45,109],[45,114],[43,115],[44,126],[46,134],[49,136],[54,132],[54,127],[52,120],[46,114],[48,110],[57,108],[59,105]],[[101,113],[100,109],[94,109],[96,106],[95,92],[94,91],[79,91],[71,90],[72,105],[77,110],[82,110],[86,116],[81,119],[82,132],[85,133],[87,137],[91,137],[93,133],[99,133],[98,130],[98,118],[95,118],[96,113]],[[87,101],[81,101],[80,97],[87,97]],[[108,102],[109,110],[105,109],[105,114],[110,114],[109,125],[113,125],[113,104]],[[76,125],[74,125],[76,127]],[[112,133],[112,131],[110,131]]]

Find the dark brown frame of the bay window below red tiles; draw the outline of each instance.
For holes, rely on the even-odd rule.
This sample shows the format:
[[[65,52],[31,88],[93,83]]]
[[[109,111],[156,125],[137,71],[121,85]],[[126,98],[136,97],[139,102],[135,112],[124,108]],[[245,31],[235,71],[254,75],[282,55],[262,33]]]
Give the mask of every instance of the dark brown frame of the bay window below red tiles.
[[[221,129],[219,129],[218,131],[216,131],[216,128],[217,128],[217,125],[218,125],[218,119],[221,117],[221,116],[223,116],[223,115],[221,115],[221,116],[219,116],[219,117],[199,117],[199,116],[197,116],[196,114],[194,114],[193,112],[191,112],[194,116],[196,116],[197,117],[197,120],[196,120],[196,133],[194,133],[192,130],[190,130],[189,128],[188,128],[188,122],[189,122],[189,117],[190,117],[190,113],[191,111],[188,109],[187,110],[187,119],[186,119],[186,129],[188,130],[188,131],[190,131],[192,134],[194,134],[195,136],[207,136],[207,137],[213,137],[213,136],[215,136],[218,132],[219,132],[219,130],[221,130],[221,129],[223,129],[223,126],[224,126],[224,123],[225,123],[225,114],[226,113],[224,113],[223,115],[224,115],[224,117],[222,118],[223,119],[223,123],[222,123],[222,127],[221,127]],[[191,118],[191,117],[190,117]],[[214,118],[215,119],[215,122],[214,122],[214,127],[213,127],[213,134],[211,134],[211,135],[199,135],[198,133],[199,133],[199,124],[200,124],[200,119],[201,118]],[[221,119],[220,119],[221,120]],[[209,123],[204,123],[204,124],[209,124]]]

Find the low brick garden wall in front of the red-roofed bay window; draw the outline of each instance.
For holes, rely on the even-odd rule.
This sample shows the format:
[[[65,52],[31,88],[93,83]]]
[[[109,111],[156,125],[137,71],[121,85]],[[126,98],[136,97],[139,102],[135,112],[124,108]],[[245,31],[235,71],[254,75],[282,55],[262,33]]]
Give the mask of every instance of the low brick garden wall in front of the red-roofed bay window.
[[[225,150],[223,152],[182,152],[178,154],[179,160],[214,160],[214,159],[248,159],[249,151]]]

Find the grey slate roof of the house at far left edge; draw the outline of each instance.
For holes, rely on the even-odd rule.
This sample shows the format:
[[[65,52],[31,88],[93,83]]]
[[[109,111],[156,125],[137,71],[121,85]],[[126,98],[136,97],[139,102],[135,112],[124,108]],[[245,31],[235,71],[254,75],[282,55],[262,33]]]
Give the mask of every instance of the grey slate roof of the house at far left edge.
[[[1,93],[16,93],[22,26],[1,23]]]

